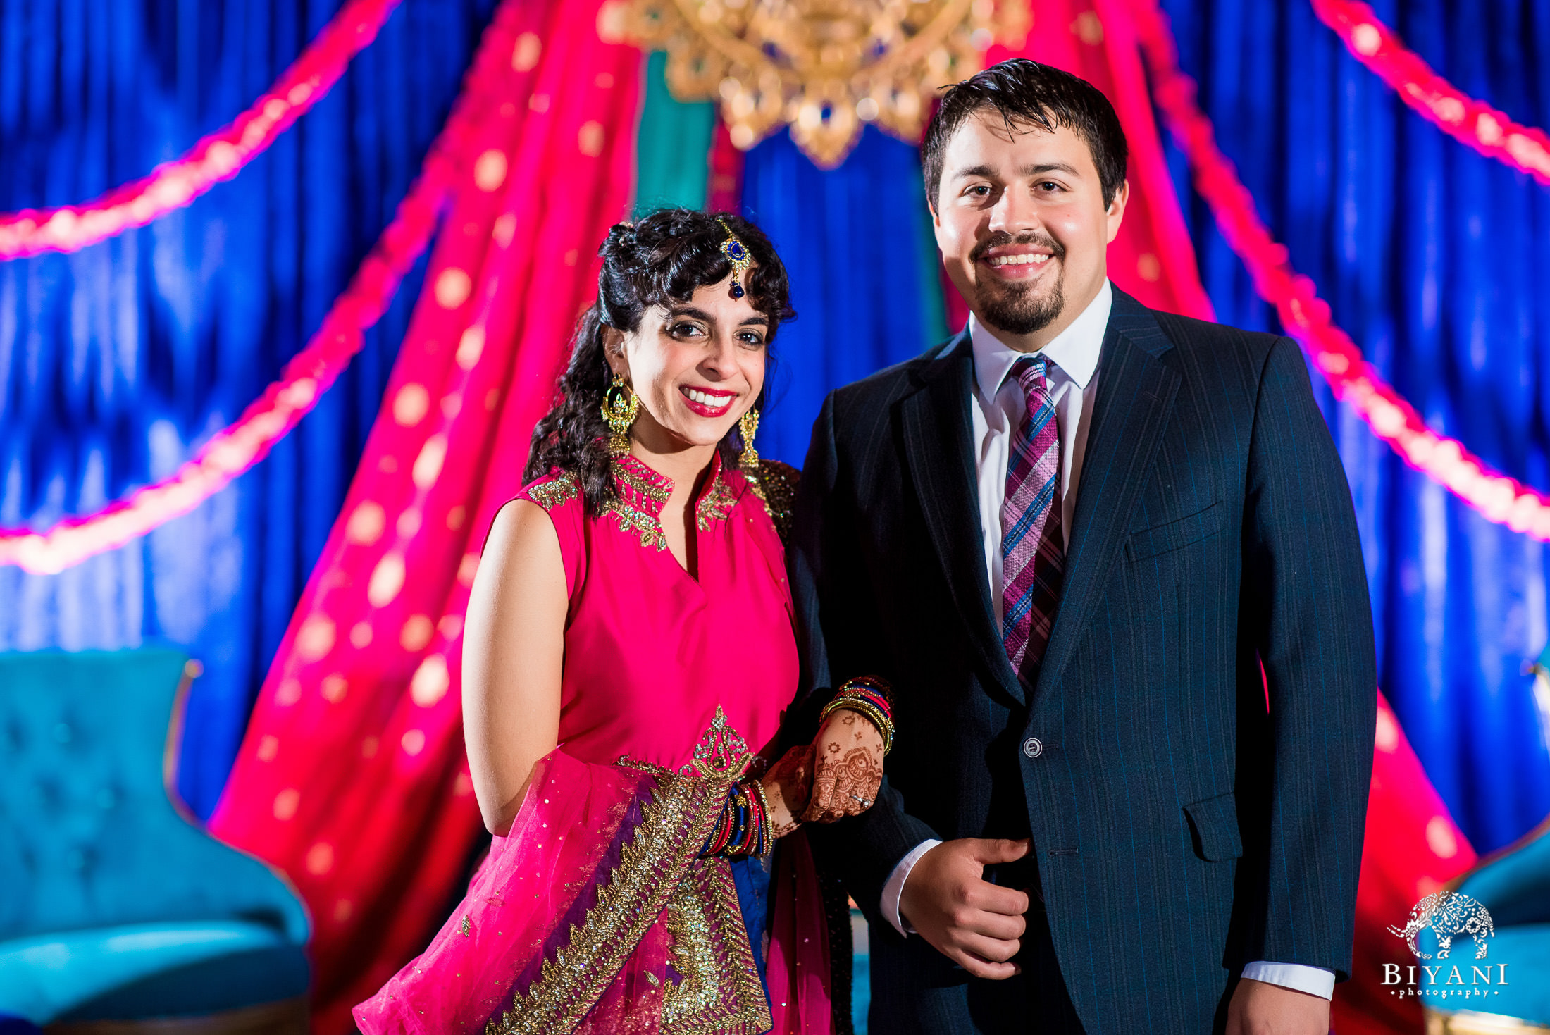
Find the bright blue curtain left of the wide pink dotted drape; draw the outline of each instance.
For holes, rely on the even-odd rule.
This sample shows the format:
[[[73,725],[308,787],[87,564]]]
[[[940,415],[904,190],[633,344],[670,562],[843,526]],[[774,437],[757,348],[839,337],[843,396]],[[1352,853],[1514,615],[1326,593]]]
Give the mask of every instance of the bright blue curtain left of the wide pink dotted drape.
[[[302,0],[0,0],[0,211],[84,201],[250,105],[333,15]],[[406,0],[236,180],[73,256],[0,263],[0,524],[169,474],[301,349],[391,220],[493,0]],[[417,270],[257,468],[54,576],[0,567],[0,649],[184,646],[205,663],[180,789],[208,815],[343,502]]]

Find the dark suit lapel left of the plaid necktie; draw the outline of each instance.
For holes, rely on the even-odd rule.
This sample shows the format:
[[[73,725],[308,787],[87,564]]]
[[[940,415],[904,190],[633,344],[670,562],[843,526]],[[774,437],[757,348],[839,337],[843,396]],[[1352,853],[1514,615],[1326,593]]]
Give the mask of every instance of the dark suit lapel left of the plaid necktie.
[[[967,332],[921,373],[921,389],[905,397],[899,409],[905,457],[921,497],[925,527],[958,614],[969,628],[969,638],[995,683],[1021,705],[1026,703],[1023,685],[1001,646],[984,569],[973,425],[969,417],[973,349]]]

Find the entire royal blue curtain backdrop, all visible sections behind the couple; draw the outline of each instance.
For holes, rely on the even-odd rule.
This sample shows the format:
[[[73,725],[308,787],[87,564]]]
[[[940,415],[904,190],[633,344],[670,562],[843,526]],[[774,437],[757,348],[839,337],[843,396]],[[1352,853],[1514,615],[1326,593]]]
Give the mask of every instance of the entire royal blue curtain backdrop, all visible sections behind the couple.
[[[0,211],[93,197],[251,102],[333,14],[298,0],[0,0]],[[167,474],[299,349],[403,195],[493,0],[405,0],[318,108],[234,181],[74,256],[0,263],[0,524],[45,527]],[[1375,5],[1438,71],[1550,124],[1550,0]],[[1293,263],[1429,421],[1550,488],[1550,189],[1404,108],[1307,0],[1164,0]],[[1274,328],[1173,155],[1220,319]],[[947,328],[914,147],[868,129],[835,170],[781,133],[744,211],[800,319],[760,434],[800,463],[823,394]],[[274,454],[195,513],[57,576],[0,569],[0,649],[186,646],[206,665],[180,786],[214,804],[251,696],[377,412],[418,273]],[[1479,849],[1550,812],[1524,663],[1544,548],[1460,505],[1316,389],[1356,499],[1381,682]]]

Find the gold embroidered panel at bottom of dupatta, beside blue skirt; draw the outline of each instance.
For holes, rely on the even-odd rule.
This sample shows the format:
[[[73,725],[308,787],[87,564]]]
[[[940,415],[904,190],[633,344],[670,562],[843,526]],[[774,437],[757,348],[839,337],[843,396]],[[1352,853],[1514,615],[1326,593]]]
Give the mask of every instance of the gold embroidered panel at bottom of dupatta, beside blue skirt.
[[[758,1035],[770,1013],[724,858],[702,858],[668,900],[673,968],[662,993],[663,1035]]]

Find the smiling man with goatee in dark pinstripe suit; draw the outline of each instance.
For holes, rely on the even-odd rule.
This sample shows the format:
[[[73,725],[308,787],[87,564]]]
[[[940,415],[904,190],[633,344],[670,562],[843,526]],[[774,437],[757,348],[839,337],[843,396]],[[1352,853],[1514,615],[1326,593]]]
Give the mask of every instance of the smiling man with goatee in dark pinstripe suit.
[[[1327,1032],[1376,676],[1300,353],[1108,284],[1125,141],[1082,79],[973,76],[924,161],[973,316],[826,400],[790,558],[804,707],[894,689],[876,806],[809,830],[871,1030]]]

